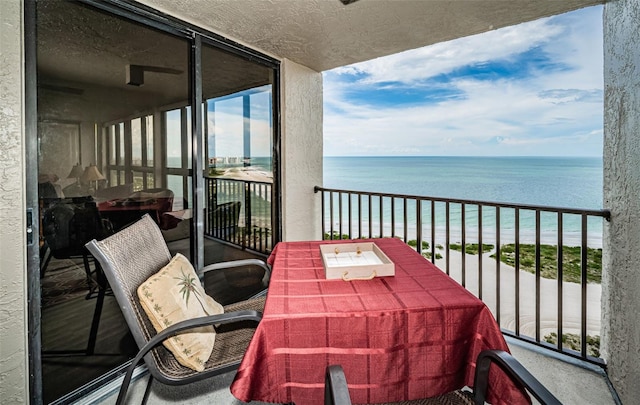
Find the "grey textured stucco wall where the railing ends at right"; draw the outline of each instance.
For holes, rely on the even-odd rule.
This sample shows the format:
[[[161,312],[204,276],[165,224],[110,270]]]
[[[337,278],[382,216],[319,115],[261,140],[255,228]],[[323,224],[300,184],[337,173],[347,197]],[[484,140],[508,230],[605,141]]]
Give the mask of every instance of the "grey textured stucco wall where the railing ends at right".
[[[604,7],[602,343],[622,403],[640,398],[640,2]]]

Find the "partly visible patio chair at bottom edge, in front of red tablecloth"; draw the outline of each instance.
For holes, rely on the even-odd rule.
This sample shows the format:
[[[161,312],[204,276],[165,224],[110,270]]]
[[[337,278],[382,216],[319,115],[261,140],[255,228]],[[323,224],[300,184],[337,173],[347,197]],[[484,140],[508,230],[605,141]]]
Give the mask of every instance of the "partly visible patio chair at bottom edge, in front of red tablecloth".
[[[478,355],[474,375],[473,391],[456,390],[433,398],[416,399],[385,405],[484,405],[489,386],[491,364],[500,367],[523,391],[529,393],[542,405],[562,403],[547,390],[524,366],[503,350],[484,350]],[[329,365],[325,372],[325,405],[351,405],[347,380],[341,365]]]

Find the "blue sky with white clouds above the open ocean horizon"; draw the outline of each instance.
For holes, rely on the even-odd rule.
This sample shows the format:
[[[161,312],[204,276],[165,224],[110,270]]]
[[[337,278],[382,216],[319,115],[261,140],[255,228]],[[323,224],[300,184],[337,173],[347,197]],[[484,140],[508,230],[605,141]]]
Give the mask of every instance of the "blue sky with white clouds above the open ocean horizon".
[[[602,156],[602,6],[323,73],[325,156]]]

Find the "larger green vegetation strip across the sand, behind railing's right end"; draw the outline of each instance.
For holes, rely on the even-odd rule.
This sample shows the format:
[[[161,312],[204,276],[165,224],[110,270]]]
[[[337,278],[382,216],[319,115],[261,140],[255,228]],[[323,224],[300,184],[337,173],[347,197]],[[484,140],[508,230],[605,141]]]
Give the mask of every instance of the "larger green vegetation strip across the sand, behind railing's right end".
[[[580,246],[562,248],[562,279],[567,282],[582,281],[582,249]],[[491,257],[495,258],[495,254]],[[516,265],[516,245],[507,244],[500,248],[500,261],[509,266]],[[520,244],[520,270],[536,272],[536,245]],[[587,282],[600,283],[602,279],[602,249],[587,248]],[[558,278],[558,247],[540,245],[540,275],[544,278]]]

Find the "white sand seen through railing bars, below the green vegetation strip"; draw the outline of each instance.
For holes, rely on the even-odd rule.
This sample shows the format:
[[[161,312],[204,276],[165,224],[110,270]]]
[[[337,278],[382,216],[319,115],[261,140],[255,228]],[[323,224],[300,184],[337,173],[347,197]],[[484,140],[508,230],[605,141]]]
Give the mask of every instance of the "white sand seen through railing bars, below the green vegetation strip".
[[[436,266],[446,270],[446,254],[437,250],[443,258],[436,259]],[[482,257],[482,300],[496,314],[496,260],[485,253]],[[465,255],[466,288],[478,296],[478,255]],[[450,275],[462,284],[462,253],[450,251]],[[535,275],[520,271],[520,334],[535,337],[536,321],[536,280]],[[500,326],[515,331],[515,269],[500,263]],[[580,334],[581,286],[564,282],[562,285],[563,333]],[[556,280],[540,278],[540,328],[541,339],[551,332],[557,332],[558,284]],[[600,335],[600,284],[587,285],[587,334]]]

